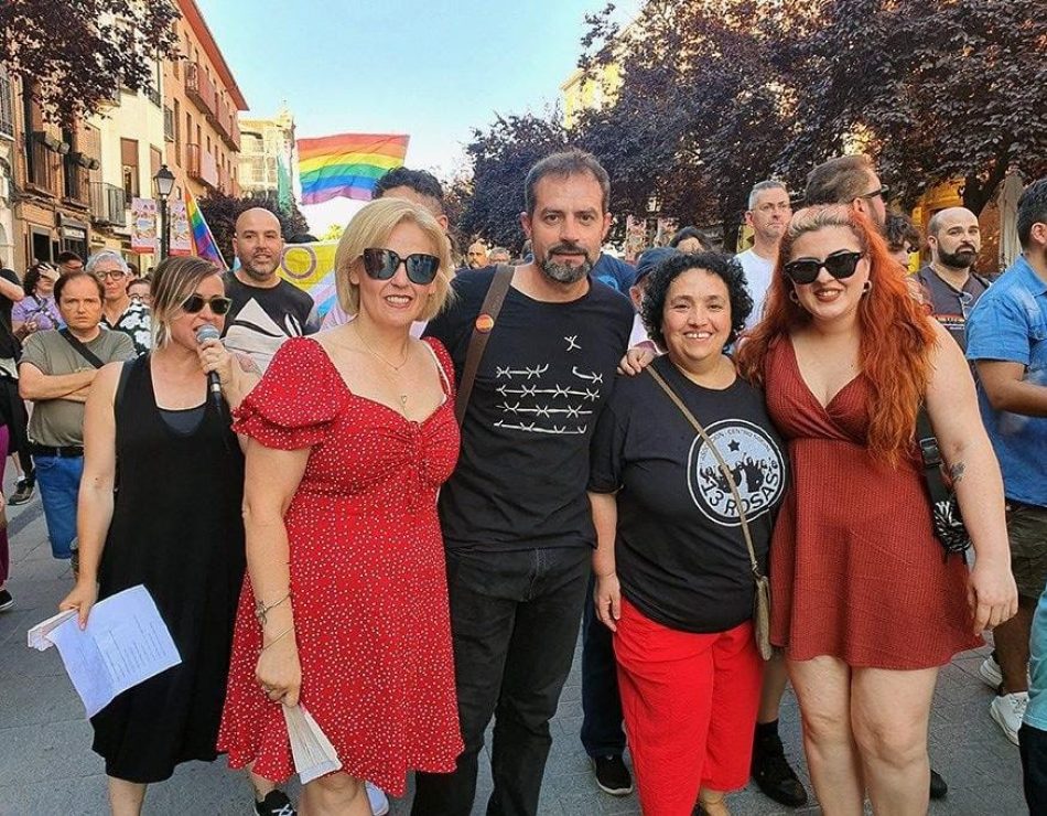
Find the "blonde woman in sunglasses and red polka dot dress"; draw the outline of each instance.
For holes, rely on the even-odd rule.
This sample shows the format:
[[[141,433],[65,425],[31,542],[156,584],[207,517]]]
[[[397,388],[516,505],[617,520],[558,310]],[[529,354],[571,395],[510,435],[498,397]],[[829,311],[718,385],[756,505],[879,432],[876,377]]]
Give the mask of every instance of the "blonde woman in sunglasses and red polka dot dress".
[[[335,260],[353,322],[289,340],[236,412],[250,437],[248,579],[218,738],[233,767],[294,773],[282,706],[301,704],[342,770],[303,812],[370,814],[363,780],[402,795],[462,750],[436,493],[457,459],[453,368],[410,336],[449,297],[447,239],[379,200]]]

